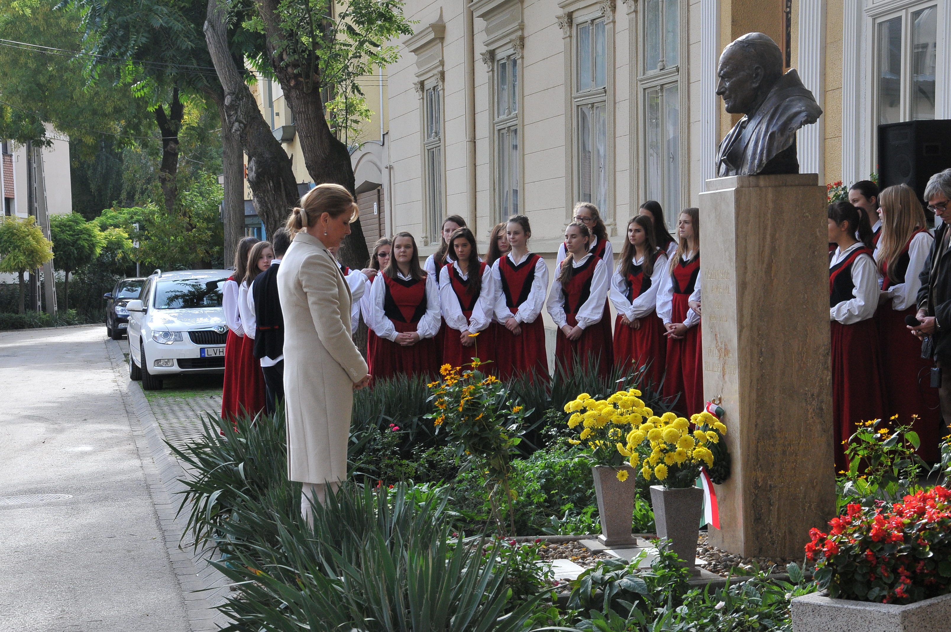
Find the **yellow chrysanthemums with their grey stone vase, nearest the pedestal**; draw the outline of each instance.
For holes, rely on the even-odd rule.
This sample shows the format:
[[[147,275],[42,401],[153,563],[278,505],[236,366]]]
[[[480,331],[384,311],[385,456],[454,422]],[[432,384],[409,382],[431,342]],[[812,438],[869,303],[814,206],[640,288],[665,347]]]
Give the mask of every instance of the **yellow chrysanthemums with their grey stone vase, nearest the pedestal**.
[[[690,569],[696,561],[704,498],[696,480],[701,468],[713,465],[709,445],[719,444],[726,432],[727,426],[708,412],[693,415],[690,421],[666,412],[631,430],[627,445],[617,445],[631,467],[640,467],[640,476],[660,483],[650,485],[657,535],[670,540],[673,551]]]

